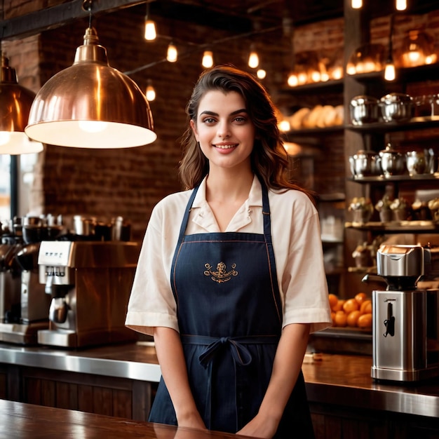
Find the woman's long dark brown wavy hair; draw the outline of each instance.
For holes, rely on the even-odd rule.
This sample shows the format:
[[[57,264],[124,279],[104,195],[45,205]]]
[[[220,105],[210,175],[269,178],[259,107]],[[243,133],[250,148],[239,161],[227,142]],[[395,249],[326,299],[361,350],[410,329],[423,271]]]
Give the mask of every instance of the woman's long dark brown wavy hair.
[[[201,99],[211,90],[235,91],[245,102],[250,120],[255,125],[255,144],[251,154],[252,169],[271,189],[297,189],[311,193],[288,180],[288,155],[279,134],[276,108],[269,93],[254,76],[232,65],[219,65],[203,72],[194,86],[186,107],[189,121],[196,123]],[[189,123],[188,123],[189,125]],[[179,174],[184,187],[192,189],[209,172],[209,162],[196,142],[189,126],[182,136],[183,157]]]

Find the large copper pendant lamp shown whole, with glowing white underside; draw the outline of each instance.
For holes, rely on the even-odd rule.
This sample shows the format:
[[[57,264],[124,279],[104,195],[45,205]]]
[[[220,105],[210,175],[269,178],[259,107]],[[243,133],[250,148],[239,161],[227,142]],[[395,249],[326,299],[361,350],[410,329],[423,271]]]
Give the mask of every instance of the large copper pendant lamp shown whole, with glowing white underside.
[[[36,93],[25,132],[62,147],[129,148],[156,140],[151,109],[137,84],[109,67],[89,25],[74,63]]]

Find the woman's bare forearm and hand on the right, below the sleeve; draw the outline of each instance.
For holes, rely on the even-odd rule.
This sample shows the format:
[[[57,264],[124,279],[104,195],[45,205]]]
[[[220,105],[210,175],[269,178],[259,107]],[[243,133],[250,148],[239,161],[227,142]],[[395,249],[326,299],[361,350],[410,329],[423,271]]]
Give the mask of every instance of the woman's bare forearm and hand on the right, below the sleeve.
[[[292,323],[283,328],[273,372],[258,414],[238,434],[272,438],[281,421],[302,368],[309,337],[309,324]]]

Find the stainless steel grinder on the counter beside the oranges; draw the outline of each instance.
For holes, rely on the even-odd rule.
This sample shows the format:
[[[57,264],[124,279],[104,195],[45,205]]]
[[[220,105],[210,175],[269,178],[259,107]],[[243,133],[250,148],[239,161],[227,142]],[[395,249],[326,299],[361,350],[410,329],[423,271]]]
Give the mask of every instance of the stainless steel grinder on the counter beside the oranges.
[[[439,290],[417,288],[433,273],[430,248],[381,245],[377,251],[377,275],[386,289],[372,291],[372,378],[439,375]]]

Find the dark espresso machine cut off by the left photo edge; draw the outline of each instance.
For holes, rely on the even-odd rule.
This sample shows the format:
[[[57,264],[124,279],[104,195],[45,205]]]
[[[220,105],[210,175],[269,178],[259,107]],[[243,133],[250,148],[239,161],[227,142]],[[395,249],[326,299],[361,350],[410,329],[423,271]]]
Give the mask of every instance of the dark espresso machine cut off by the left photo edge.
[[[19,218],[0,244],[0,341],[37,344],[37,332],[48,328],[48,300],[39,283],[39,243],[23,239]],[[20,224],[21,226],[21,224]]]

